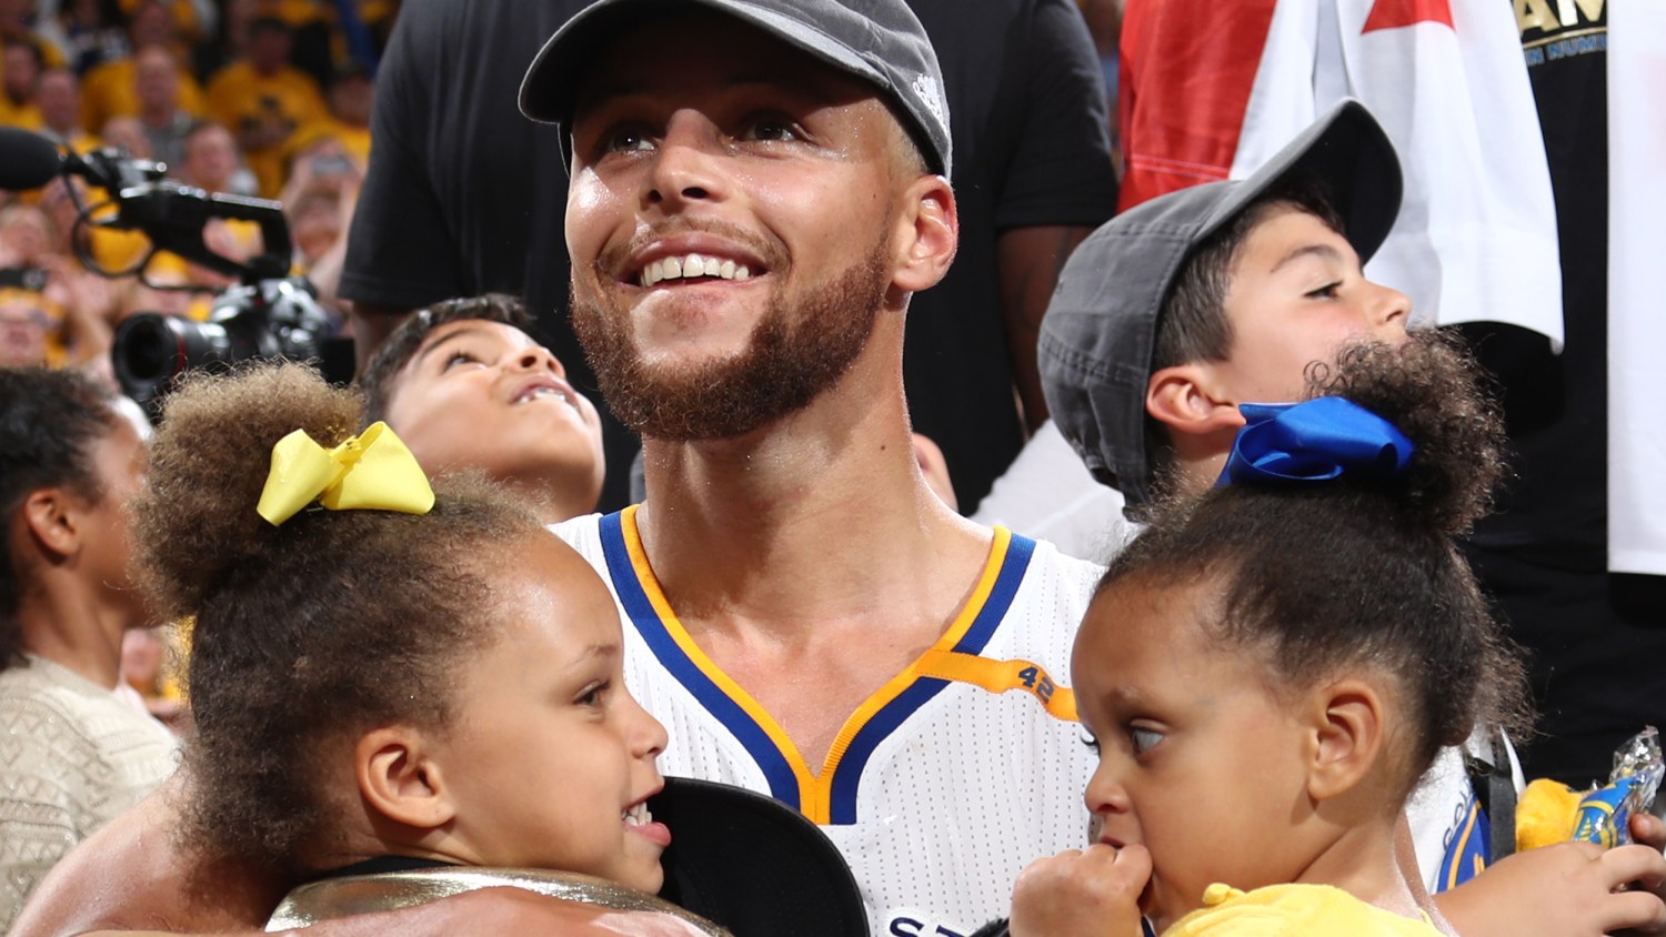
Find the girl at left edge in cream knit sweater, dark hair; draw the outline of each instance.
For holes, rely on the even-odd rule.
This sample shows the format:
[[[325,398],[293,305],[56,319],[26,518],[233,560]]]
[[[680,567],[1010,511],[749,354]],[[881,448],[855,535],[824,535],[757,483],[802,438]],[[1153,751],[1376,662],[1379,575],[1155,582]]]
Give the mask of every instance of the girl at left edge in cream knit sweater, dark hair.
[[[0,368],[0,930],[70,849],[162,784],[178,744],[118,696],[127,508],[145,443],[70,371]]]

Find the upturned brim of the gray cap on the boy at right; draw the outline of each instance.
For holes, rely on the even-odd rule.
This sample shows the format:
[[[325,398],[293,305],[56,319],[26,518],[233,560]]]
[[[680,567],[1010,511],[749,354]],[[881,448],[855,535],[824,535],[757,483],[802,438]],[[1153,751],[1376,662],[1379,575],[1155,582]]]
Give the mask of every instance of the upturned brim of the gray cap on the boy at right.
[[[1231,221],[1266,191],[1296,180],[1319,185],[1341,216],[1343,236],[1361,263],[1383,246],[1399,216],[1404,183],[1394,145],[1364,105],[1344,98],[1238,183],[1216,205],[1198,240]]]

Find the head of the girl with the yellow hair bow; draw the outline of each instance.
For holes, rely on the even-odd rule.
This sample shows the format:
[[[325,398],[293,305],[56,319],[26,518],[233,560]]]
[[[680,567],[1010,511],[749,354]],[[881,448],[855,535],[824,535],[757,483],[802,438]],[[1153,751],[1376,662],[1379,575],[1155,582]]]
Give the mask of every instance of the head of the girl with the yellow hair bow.
[[[663,727],[590,566],[298,364],[172,393],[138,558],[195,616],[187,835],[285,880],[435,864],[655,892]],[[310,483],[303,479],[317,473]]]

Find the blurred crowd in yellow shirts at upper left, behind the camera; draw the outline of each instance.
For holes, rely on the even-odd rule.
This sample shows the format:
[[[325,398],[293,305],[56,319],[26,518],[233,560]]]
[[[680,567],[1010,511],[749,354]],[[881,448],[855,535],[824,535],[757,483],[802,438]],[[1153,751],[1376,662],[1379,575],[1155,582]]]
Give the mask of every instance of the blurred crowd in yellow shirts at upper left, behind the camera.
[[[398,3],[308,0],[13,0],[0,125],[77,153],[120,148],[167,178],[275,198],[290,245],[213,220],[210,250],[292,258],[327,305],[370,156],[377,55]],[[80,178],[0,196],[0,364],[78,366],[108,379],[117,325],[135,311],[205,318],[223,273],[158,251]],[[148,263],[147,263],[148,260]],[[107,276],[137,271],[140,276]],[[102,271],[102,273],[95,273]]]

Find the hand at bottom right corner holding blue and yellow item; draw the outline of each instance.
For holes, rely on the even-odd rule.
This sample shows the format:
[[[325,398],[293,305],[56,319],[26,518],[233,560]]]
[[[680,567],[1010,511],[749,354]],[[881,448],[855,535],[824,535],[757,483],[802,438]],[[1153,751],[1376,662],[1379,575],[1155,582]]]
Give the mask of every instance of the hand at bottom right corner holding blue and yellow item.
[[[1434,897],[1464,937],[1666,934],[1666,857],[1649,845],[1561,842],[1518,852]],[[1639,885],[1634,890],[1618,890]]]

